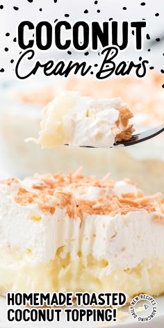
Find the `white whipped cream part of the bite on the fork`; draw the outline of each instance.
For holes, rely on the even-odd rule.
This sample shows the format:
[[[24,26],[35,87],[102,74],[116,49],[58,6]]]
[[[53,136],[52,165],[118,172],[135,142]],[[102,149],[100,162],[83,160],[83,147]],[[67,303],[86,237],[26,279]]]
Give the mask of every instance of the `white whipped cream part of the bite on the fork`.
[[[120,98],[92,100],[78,97],[72,113],[65,117],[65,128],[71,131],[69,145],[113,146],[118,132],[113,129],[117,129],[116,122],[120,115],[117,108],[121,106]]]

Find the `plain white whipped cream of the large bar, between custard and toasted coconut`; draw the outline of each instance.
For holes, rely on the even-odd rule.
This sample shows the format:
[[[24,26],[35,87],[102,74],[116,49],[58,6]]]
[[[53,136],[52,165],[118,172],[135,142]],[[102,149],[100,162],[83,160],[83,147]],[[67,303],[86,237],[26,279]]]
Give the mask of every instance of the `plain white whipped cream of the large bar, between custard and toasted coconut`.
[[[83,256],[92,254],[95,259],[106,259],[111,270],[116,266],[134,268],[144,259],[163,257],[164,224],[153,220],[154,214],[162,215],[158,209],[154,213],[136,211],[115,217],[85,214],[81,224],[80,218],[70,219],[65,208],[56,208],[51,215],[44,214],[36,204],[17,204],[13,196],[23,183],[1,185],[0,247],[23,252],[31,249],[31,261],[43,263],[54,259],[58,248],[63,247],[63,257],[68,252],[74,260],[79,251]],[[124,193],[134,191],[130,183],[120,184]],[[117,192],[120,194],[118,189]],[[99,195],[92,187],[86,198],[97,199]],[[40,216],[41,220],[31,220],[33,216]]]

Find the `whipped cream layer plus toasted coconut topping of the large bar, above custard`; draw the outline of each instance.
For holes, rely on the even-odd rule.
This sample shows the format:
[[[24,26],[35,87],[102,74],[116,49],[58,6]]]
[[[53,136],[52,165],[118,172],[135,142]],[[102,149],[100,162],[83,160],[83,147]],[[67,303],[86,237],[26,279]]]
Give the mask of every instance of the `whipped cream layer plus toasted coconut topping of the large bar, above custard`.
[[[72,175],[3,181],[0,248],[25,252],[34,263],[49,262],[59,250],[76,261],[80,252],[108,261],[109,272],[163,259],[160,195],[145,197],[131,181],[78,181]]]

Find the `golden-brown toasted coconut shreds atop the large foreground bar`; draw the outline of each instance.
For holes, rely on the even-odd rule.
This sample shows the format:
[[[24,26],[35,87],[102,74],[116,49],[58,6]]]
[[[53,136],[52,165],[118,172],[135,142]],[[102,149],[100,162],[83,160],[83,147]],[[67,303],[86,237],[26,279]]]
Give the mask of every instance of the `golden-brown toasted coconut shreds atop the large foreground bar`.
[[[12,181],[12,182],[11,182]],[[26,185],[28,178],[24,179],[22,186]],[[148,213],[161,211],[161,216],[156,215],[154,220],[164,221],[164,199],[161,199],[161,193],[146,197],[144,193],[136,188],[136,192],[122,194],[120,197],[115,192],[115,181],[110,176],[104,179],[97,179],[93,176],[84,177],[78,170],[69,174],[35,174],[30,178],[31,188],[18,188],[14,199],[22,206],[28,204],[38,204],[44,213],[54,214],[56,207],[66,208],[69,218],[83,219],[84,213],[90,215],[110,215],[115,216],[118,213],[126,214],[133,211],[147,211]],[[128,179],[125,183],[133,184]],[[10,186],[10,183],[20,183],[16,179],[2,181]],[[86,197],[89,188],[96,187],[99,195],[96,199]]]

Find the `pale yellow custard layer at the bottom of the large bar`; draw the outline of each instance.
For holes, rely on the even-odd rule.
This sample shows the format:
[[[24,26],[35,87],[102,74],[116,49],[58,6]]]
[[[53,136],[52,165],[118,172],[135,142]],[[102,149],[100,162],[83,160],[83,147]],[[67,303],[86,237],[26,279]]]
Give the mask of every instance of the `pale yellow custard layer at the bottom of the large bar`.
[[[93,256],[77,254],[76,261],[70,254],[61,257],[62,249],[49,263],[33,259],[31,251],[26,254],[11,249],[0,250],[0,290],[19,292],[122,291],[129,295],[164,293],[164,257],[147,259],[136,268],[110,271],[108,261],[98,261]],[[135,256],[135,255],[134,255]]]

